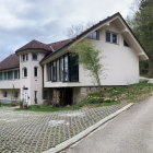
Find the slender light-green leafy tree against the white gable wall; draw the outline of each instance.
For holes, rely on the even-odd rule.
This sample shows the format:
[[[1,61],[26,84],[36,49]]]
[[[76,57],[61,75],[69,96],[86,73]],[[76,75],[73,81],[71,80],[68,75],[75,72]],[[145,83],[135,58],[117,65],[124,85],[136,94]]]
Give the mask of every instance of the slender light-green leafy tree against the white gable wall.
[[[101,63],[99,50],[95,48],[91,40],[84,39],[73,45],[70,51],[79,55],[79,63],[89,70],[97,85],[101,85],[99,74],[103,71],[103,64]]]

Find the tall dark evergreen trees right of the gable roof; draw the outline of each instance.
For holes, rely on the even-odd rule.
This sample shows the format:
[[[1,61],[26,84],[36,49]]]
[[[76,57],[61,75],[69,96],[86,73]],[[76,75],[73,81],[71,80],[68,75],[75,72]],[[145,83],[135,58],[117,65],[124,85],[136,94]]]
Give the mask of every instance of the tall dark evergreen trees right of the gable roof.
[[[150,56],[140,69],[143,72],[149,64],[148,75],[153,76],[153,0],[139,0],[138,8],[128,23]]]

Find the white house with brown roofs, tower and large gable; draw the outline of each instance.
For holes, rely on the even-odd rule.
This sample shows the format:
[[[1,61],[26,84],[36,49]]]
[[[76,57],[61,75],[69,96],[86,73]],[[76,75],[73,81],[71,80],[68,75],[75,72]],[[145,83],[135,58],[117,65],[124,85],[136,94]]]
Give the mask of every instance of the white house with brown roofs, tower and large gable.
[[[144,48],[119,13],[109,16],[79,36],[52,44],[32,40],[0,62],[0,101],[24,99],[28,105],[71,105],[97,84],[69,47],[89,38],[102,50],[102,86],[139,82],[139,61],[148,60]],[[105,76],[104,76],[105,73]]]

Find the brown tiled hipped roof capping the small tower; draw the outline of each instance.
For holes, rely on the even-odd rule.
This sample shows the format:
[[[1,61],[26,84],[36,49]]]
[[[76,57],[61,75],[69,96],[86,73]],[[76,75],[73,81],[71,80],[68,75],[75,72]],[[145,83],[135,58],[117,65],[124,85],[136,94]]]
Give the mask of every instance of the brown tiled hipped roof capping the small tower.
[[[23,51],[23,50],[26,50],[26,49],[43,49],[45,51],[52,51],[52,49],[49,45],[40,43],[40,42],[35,40],[35,39],[27,43],[26,45],[24,45],[20,49],[17,49],[16,52]]]

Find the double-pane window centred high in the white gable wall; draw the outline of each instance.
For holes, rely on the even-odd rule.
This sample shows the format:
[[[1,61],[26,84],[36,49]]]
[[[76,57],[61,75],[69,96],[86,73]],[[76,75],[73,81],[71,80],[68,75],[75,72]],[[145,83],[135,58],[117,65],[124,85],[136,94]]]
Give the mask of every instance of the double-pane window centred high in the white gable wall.
[[[118,35],[111,32],[106,32],[106,42],[118,44]]]

